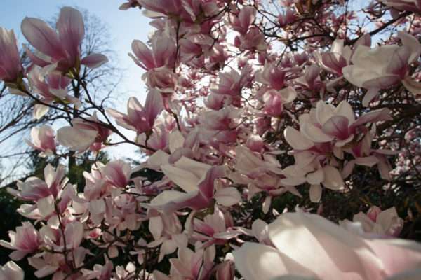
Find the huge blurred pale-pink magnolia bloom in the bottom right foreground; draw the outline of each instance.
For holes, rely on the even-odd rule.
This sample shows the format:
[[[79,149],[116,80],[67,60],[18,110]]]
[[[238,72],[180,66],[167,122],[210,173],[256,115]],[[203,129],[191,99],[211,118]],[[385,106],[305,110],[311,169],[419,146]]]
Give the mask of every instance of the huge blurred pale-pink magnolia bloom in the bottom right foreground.
[[[234,251],[244,279],[384,280],[421,264],[414,241],[366,239],[314,214],[282,214],[269,225],[269,238],[274,247],[246,242]]]

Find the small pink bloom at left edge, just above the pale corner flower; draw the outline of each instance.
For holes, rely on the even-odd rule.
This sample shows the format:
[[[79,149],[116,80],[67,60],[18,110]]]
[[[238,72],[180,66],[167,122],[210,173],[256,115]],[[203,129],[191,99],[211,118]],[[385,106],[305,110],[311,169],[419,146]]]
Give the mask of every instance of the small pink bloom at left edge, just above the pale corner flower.
[[[29,222],[23,222],[20,227],[16,228],[16,232],[9,231],[8,235],[11,241],[0,240],[0,246],[16,250],[9,255],[12,260],[22,260],[25,255],[34,253],[41,243],[39,233]]]

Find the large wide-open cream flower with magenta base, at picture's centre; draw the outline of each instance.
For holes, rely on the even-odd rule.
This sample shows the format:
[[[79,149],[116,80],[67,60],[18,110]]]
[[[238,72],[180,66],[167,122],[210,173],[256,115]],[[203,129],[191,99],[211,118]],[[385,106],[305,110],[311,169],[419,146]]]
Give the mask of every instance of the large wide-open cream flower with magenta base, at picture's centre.
[[[185,193],[178,190],[164,190],[151,200],[148,207],[173,212],[182,208],[205,209],[213,199],[223,206],[232,206],[241,200],[234,187],[220,188],[215,191],[215,180],[225,176],[225,167],[196,162],[182,157],[174,165],[161,165],[163,173],[177,184]]]

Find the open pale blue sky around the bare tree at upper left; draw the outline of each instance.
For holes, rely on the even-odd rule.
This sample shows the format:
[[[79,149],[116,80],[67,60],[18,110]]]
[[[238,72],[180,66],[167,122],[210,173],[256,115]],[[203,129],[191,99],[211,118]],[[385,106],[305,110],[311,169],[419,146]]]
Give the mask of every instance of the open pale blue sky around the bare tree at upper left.
[[[21,45],[26,41],[20,32],[20,22],[26,16],[49,20],[58,14],[62,6],[79,7],[96,15],[108,25],[111,35],[109,48],[116,52],[116,66],[124,69],[119,92],[114,94],[114,97],[117,97],[114,106],[120,111],[126,111],[128,97],[138,97],[142,102],[146,96],[145,85],[140,78],[142,69],[128,57],[131,42],[134,39],[147,41],[152,27],[149,25],[149,19],[142,15],[139,9],[119,10],[123,2],[124,0],[1,0],[0,26],[13,29],[18,37],[18,44]],[[123,145],[117,149],[112,148],[111,152],[113,158],[124,157],[132,153],[133,148]]]

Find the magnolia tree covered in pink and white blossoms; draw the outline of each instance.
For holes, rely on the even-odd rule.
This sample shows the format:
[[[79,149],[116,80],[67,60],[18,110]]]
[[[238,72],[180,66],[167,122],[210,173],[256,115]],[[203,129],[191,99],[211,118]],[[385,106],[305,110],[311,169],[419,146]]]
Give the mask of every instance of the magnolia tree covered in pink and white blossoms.
[[[0,241],[12,260],[55,280],[420,279],[421,1],[120,8],[142,8],[154,27],[129,54],[145,70],[145,103],[131,97],[123,112],[81,80],[107,57],[81,57],[77,10],[62,8],[55,29],[22,21],[25,68],[0,29],[8,90],[73,118],[34,129],[34,149],[147,155],[98,162],[81,193],[63,165],[9,189],[28,219]],[[86,99],[67,92],[74,82]],[[23,279],[12,260],[0,279]]]

